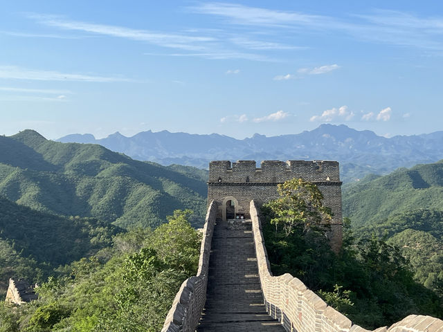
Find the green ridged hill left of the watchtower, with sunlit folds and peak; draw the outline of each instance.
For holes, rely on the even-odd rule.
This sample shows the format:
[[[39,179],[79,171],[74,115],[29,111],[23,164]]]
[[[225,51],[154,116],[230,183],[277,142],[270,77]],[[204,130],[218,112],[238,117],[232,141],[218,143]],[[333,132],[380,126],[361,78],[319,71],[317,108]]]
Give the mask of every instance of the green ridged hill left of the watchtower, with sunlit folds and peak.
[[[206,183],[190,169],[163,167],[100,145],[60,143],[25,130],[0,137],[0,194],[61,216],[94,217],[121,227],[156,227],[190,208],[200,226]]]

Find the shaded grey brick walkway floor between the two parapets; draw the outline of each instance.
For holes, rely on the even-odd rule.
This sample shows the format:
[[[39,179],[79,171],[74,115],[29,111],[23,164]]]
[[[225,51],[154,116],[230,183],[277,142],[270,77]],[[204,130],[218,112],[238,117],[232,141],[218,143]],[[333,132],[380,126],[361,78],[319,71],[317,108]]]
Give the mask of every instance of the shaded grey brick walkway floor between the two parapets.
[[[251,227],[251,220],[217,220],[198,332],[284,331],[264,308]]]

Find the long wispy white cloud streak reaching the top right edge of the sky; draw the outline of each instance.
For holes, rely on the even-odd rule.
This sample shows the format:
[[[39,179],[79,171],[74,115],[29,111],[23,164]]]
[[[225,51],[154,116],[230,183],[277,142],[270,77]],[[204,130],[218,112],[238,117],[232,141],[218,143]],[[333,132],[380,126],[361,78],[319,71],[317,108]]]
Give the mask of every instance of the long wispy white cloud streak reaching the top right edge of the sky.
[[[293,29],[303,33],[334,32],[378,44],[443,50],[443,17],[419,17],[395,10],[373,10],[369,15],[331,17],[305,12],[272,10],[233,3],[199,3],[192,12],[214,15],[229,24]]]

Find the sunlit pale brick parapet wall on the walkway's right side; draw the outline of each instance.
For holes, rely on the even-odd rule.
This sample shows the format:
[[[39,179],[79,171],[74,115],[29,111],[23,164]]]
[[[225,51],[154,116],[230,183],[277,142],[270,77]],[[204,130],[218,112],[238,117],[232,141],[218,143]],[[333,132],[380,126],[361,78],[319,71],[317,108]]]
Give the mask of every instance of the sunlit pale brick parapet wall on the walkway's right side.
[[[250,203],[255,254],[266,310],[278,319],[286,331],[367,332],[336,311],[289,273],[273,277],[264,246],[262,225],[254,201]],[[400,322],[383,326],[377,332],[443,331],[443,321],[430,316],[409,315]]]

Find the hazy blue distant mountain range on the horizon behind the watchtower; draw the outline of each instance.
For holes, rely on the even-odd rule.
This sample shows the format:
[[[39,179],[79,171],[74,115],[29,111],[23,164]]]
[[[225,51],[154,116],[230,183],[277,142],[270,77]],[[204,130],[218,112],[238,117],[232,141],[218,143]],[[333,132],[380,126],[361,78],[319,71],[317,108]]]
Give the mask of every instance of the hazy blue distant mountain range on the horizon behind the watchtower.
[[[138,160],[205,169],[210,160],[338,160],[345,182],[443,158],[443,131],[385,138],[344,124],[322,124],[312,131],[273,137],[256,133],[244,140],[216,133],[143,131],[132,137],[116,132],[102,139],[89,133],[75,133],[58,141],[96,143]]]

